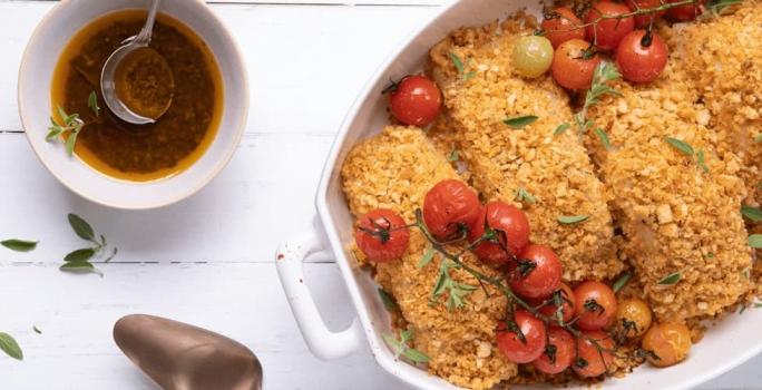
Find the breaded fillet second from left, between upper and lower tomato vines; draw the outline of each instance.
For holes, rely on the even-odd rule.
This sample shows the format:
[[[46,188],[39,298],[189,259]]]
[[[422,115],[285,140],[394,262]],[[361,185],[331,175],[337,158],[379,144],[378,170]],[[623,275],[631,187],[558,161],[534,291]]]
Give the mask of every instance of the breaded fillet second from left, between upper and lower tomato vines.
[[[608,195],[579,137],[573,131],[554,135],[559,125],[572,123],[566,94],[549,76],[527,80],[514,74],[514,42],[531,31],[520,25],[456,30],[431,49],[432,74],[456,131],[450,138],[457,139],[472,184],[486,198],[525,208],[531,240],[558,253],[564,280],[613,277],[623,263],[612,240]],[[463,72],[453,66],[453,56]],[[529,115],[538,119],[519,129],[504,123]],[[517,202],[519,188],[537,202]],[[588,218],[564,224],[561,216]]]

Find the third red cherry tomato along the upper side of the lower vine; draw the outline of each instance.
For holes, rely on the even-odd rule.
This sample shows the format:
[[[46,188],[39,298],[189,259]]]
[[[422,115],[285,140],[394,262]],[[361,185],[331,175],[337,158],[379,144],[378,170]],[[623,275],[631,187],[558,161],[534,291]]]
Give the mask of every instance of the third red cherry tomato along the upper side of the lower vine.
[[[563,269],[551,248],[531,244],[510,264],[510,287],[524,298],[548,298],[560,286]]]

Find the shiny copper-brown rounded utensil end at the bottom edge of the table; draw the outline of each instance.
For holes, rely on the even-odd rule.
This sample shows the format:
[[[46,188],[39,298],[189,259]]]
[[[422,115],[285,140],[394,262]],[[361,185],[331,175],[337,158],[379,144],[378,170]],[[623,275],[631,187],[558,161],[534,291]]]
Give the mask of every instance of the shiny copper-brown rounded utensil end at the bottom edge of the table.
[[[114,340],[165,390],[261,390],[262,365],[224,335],[146,314],[121,318]]]

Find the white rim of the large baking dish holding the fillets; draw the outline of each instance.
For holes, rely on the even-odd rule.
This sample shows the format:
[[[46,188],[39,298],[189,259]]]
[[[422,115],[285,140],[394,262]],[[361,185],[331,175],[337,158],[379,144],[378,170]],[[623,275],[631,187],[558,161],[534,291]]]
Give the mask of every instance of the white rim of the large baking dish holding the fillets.
[[[395,368],[395,364],[398,364],[397,361],[388,359],[388,357],[384,353],[377,353],[379,348],[385,348],[385,345],[379,345],[374,340],[374,338],[377,338],[378,335],[378,331],[370,319],[371,308],[369,308],[362,299],[362,295],[359,290],[359,281],[356,280],[352,265],[350,264],[344,253],[344,245],[339,235],[336,224],[334,223],[331,206],[329,205],[329,188],[331,186],[331,181],[334,176],[334,172],[336,170],[336,164],[339,163],[338,157],[346,142],[346,136],[350,134],[358,114],[368,104],[369,99],[372,98],[373,87],[382,78],[385,79],[393,62],[400,57],[400,55],[403,51],[406,51],[413,45],[417,38],[419,38],[427,30],[433,29],[436,25],[439,25],[443,21],[446,17],[449,17],[451,12],[456,12],[456,9],[459,8],[459,4],[466,1],[469,0],[452,0],[451,2],[441,7],[441,9],[434,12],[431,17],[429,17],[429,19],[426,22],[421,23],[420,27],[414,28],[406,38],[403,38],[399,42],[399,45],[395,46],[394,49],[392,49],[391,52],[384,58],[384,60],[379,65],[379,67],[377,67],[372,76],[368,79],[363,88],[356,95],[352,106],[348,110],[348,114],[345,115],[340,126],[339,133],[336,134],[333,145],[331,146],[331,150],[325,159],[325,165],[321,174],[320,184],[318,187],[318,192],[315,193],[314,199],[315,208],[318,211],[318,217],[320,220],[316,224],[320,225],[320,227],[322,228],[321,234],[323,234],[323,237],[328,242],[328,246],[331,248],[332,253],[335,256],[336,263],[339,264],[339,269],[341,270],[344,285],[350,293],[350,299],[354,304],[358,318],[360,319],[360,323],[365,332],[365,339],[369,343],[369,347],[371,348],[373,359],[377,361],[379,365],[381,365],[390,374],[394,376],[398,380],[402,380],[409,384],[426,389],[440,389],[442,383],[441,381],[438,381],[438,379],[441,378],[434,376],[430,376],[428,380],[412,378],[406,374],[404,371],[398,370]],[[705,383],[712,379],[715,379],[726,373],[727,371],[743,364],[744,362],[754,358],[755,355],[759,355],[760,353],[762,353],[762,341],[756,342],[753,347],[744,350],[742,353],[735,354],[733,358],[726,359],[722,363],[713,365],[711,370],[695,372],[695,374],[684,378],[682,381],[674,383],[667,388],[671,390],[694,388],[696,386]],[[610,380],[608,382],[610,382]],[[451,388],[460,389],[449,382],[446,383],[449,384]],[[582,384],[582,387],[586,386]],[[544,387],[540,386],[537,388]],[[574,386],[569,388],[574,388]]]

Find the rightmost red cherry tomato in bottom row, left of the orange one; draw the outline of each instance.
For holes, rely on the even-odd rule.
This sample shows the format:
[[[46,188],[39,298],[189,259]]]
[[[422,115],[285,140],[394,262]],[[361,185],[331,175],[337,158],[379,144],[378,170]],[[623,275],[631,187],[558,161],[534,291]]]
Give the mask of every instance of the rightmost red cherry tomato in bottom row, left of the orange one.
[[[590,340],[595,340],[604,350],[598,350]],[[572,364],[574,372],[583,378],[605,373],[614,361],[610,350],[615,348],[616,343],[608,334],[602,331],[584,331],[583,337],[577,339],[577,361]]]

